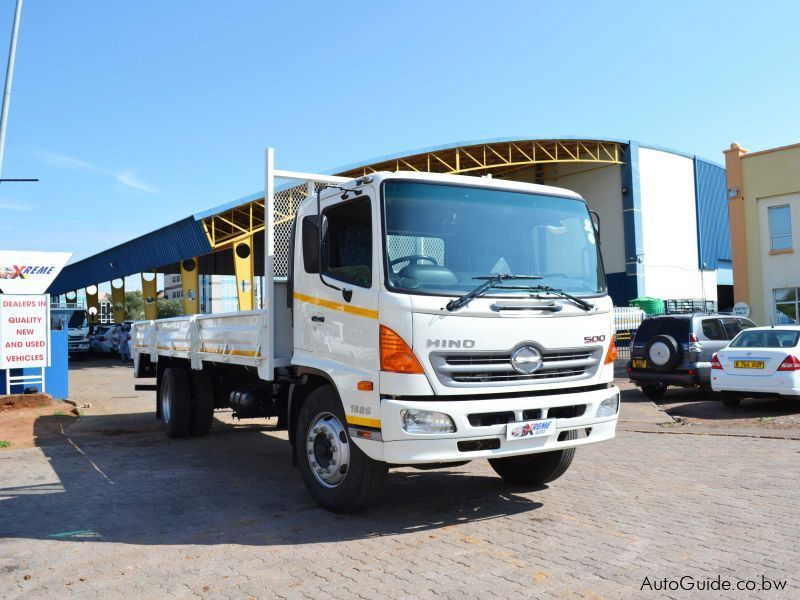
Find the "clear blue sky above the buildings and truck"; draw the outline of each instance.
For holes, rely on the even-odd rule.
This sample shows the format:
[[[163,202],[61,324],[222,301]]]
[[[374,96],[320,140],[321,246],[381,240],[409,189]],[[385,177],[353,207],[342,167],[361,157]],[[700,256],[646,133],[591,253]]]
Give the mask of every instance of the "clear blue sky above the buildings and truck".
[[[13,0],[0,3],[0,62]],[[763,6],[762,6],[763,5]],[[0,247],[83,258],[263,189],[459,140],[800,142],[797,2],[26,0]]]

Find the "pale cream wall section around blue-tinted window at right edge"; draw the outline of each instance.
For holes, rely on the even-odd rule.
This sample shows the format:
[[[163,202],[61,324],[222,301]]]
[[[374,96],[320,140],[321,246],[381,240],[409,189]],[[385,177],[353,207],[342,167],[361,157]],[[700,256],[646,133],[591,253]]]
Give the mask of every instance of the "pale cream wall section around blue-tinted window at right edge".
[[[770,206],[788,204],[792,221],[792,251],[770,254],[772,249],[769,234]],[[758,199],[758,227],[761,246],[761,277],[763,282],[764,315],[762,324],[775,318],[774,290],[778,288],[800,287],[800,193],[782,196],[768,196]]]

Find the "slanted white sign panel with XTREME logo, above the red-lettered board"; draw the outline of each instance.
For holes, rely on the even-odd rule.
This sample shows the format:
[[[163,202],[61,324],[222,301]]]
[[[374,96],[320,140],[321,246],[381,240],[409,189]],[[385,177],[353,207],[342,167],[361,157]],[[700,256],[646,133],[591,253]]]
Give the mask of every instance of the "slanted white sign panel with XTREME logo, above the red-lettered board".
[[[0,291],[44,294],[70,256],[71,252],[0,250]]]

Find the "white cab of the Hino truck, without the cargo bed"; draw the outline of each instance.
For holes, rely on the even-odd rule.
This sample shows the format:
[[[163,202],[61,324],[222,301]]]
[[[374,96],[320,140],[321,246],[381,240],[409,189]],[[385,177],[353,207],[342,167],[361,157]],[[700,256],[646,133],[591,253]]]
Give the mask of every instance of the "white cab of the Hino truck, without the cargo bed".
[[[617,395],[612,305],[583,199],[419,173],[348,189],[297,216],[292,363],[329,374],[365,453],[435,463],[613,436],[616,409],[597,416]],[[497,275],[521,278],[448,307]],[[506,437],[553,417],[553,435]]]

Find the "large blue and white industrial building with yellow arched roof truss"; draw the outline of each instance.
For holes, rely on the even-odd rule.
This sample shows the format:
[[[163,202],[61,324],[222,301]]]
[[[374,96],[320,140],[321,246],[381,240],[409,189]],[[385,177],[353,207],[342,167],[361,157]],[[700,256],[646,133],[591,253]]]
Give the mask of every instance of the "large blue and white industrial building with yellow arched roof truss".
[[[720,308],[733,304],[725,170],[716,163],[631,140],[513,138],[391,155],[331,174],[355,177],[382,170],[494,177],[574,190],[599,215],[603,261],[616,305],[644,296],[718,302]],[[289,187],[276,191],[276,240],[288,240],[294,208],[306,193]],[[227,277],[238,307],[256,307],[264,262],[263,240],[257,235],[264,227],[263,206],[260,192],[156,229],[68,265],[50,293],[88,287],[91,306],[95,284],[112,281],[119,309],[124,292],[119,280],[142,273],[151,315],[157,301],[152,274],[157,272],[181,275],[180,294],[171,294],[183,300],[187,313],[201,310],[201,276]],[[279,244],[276,252],[281,251]],[[170,281],[175,285],[178,280]],[[209,306],[214,312],[224,310],[214,302],[203,304],[207,311]]]

